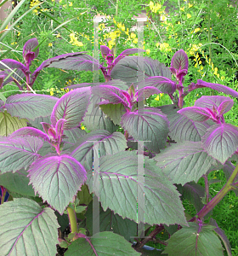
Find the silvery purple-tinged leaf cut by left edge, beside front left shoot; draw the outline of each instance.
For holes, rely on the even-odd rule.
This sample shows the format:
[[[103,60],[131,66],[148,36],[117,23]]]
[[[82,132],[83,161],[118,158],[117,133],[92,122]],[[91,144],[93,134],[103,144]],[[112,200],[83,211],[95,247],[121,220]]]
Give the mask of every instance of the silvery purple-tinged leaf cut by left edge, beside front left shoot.
[[[37,137],[1,137],[0,138],[0,171],[16,172],[22,167],[28,168],[41,155],[37,154],[42,147],[42,140]]]

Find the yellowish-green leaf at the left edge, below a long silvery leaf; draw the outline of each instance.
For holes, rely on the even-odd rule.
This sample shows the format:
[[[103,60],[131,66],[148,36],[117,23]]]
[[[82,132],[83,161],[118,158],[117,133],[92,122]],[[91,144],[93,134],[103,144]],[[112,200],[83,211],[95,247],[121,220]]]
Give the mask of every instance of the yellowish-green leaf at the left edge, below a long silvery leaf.
[[[8,136],[14,131],[26,126],[26,119],[13,117],[6,111],[0,113],[0,136]]]

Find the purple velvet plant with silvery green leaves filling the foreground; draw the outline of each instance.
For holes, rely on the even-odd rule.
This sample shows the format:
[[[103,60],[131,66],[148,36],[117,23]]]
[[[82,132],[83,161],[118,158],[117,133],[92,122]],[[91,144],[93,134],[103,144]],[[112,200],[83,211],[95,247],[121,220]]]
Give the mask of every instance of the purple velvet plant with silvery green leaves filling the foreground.
[[[89,55],[72,53],[43,61],[31,73],[37,45],[36,38],[26,43],[24,64],[0,62],[3,85],[14,80],[22,90],[14,76],[3,82],[8,67],[17,68],[32,87],[43,67],[80,71],[93,70],[95,64],[105,82],[73,84],[61,98],[24,93],[0,101],[0,114],[21,124],[9,132],[6,121],[0,137],[0,185],[14,197],[0,206],[1,253],[55,255],[60,241],[68,248],[65,255],[99,255],[110,252],[111,242],[117,241],[120,246],[112,253],[141,255],[146,242],[167,230],[170,238],[163,253],[168,255],[204,250],[206,255],[223,255],[218,237],[231,255],[224,231],[212,218],[204,224],[204,218],[229,190],[237,189],[238,167],[231,160],[238,159],[238,128],[224,121],[234,101],[229,96],[201,96],[194,107],[183,106],[184,98],[197,88],[236,98],[238,93],[202,80],[184,87],[189,62],[183,49],[173,55],[170,69],[148,57],[131,56],[142,49],[127,49],[115,58],[111,49],[101,46],[106,67]],[[145,107],[144,100],[158,93],[170,96],[173,104]],[[89,133],[80,129],[82,121]],[[116,131],[119,126],[125,134]],[[207,174],[219,169],[228,181],[209,200]],[[197,184],[201,177],[205,189]],[[99,201],[99,233],[94,232],[92,193],[95,203]],[[144,195],[142,201],[137,200],[139,194]],[[190,220],[180,195],[195,206],[197,214]],[[138,212],[144,212],[143,218]],[[140,221],[147,225],[146,232],[155,224],[156,229],[143,238],[144,231],[137,230]],[[57,229],[63,232],[69,222],[71,234],[58,240]],[[135,236],[132,247],[129,241]]]

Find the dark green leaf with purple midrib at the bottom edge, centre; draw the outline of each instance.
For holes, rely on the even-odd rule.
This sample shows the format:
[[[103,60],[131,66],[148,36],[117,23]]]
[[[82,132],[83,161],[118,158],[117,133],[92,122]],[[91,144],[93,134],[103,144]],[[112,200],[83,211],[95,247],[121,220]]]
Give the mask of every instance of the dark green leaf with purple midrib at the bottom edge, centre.
[[[65,256],[139,256],[132,244],[124,237],[114,234],[113,232],[105,231],[95,234],[87,238],[78,238],[72,241]]]

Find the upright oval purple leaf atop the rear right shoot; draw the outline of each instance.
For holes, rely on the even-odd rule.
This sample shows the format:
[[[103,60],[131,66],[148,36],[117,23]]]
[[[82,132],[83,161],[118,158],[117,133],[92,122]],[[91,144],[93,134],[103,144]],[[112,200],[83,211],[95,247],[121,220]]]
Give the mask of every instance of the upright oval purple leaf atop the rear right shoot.
[[[170,70],[180,81],[188,73],[189,59],[184,49],[179,49],[172,58]]]

